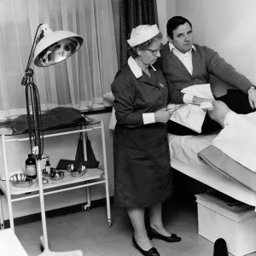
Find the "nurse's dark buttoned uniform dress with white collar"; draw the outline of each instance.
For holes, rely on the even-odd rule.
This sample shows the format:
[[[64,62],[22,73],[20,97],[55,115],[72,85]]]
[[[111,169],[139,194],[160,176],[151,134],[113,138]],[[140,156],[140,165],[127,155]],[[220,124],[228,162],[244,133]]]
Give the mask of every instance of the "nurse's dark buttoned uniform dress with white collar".
[[[151,78],[130,57],[111,85],[117,119],[114,201],[119,207],[150,207],[172,194],[166,124],[143,124],[143,113],[166,108],[172,89],[159,69],[149,66],[149,71]]]

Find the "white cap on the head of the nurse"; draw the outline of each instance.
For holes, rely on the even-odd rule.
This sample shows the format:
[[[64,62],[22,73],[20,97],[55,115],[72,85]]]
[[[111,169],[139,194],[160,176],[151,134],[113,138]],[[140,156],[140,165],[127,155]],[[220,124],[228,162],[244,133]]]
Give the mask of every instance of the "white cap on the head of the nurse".
[[[150,25],[140,25],[132,29],[131,38],[127,40],[131,47],[138,44],[143,44],[151,38],[154,38],[159,33],[159,29],[156,24]]]

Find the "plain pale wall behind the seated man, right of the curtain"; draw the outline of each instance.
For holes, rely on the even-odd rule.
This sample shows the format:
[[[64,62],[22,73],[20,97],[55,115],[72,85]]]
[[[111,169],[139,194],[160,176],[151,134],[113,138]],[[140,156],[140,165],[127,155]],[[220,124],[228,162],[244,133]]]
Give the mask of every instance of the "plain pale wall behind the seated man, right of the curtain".
[[[163,1],[166,1],[166,14],[160,15],[160,19],[165,19],[165,15],[166,21],[173,15],[188,18],[193,25],[195,43],[218,51],[256,84],[255,0],[176,0],[175,3],[159,0],[161,5]]]

